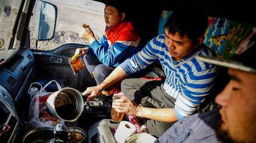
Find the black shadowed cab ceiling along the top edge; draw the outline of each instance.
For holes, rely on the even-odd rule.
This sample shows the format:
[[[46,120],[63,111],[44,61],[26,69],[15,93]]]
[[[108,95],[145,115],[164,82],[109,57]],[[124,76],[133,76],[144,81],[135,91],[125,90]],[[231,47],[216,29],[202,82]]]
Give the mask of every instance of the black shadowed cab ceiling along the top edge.
[[[109,0],[94,0],[105,2]],[[110,0],[111,1],[111,0]],[[250,22],[256,25],[256,5],[253,0],[113,0],[121,1],[132,10],[151,11],[152,10],[174,10],[184,4],[202,7],[209,16],[227,18],[238,22]],[[137,8],[135,8],[137,7]]]

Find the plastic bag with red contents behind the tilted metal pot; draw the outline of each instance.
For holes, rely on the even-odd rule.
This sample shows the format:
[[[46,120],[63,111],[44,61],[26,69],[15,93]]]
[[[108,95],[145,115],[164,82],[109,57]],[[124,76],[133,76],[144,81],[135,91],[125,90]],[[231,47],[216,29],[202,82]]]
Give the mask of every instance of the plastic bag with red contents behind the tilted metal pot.
[[[45,88],[48,87],[48,85],[52,82],[55,82],[59,90],[62,89],[57,81],[52,80],[41,88],[41,90],[38,91],[37,95],[35,95],[30,102],[29,125],[34,128],[54,127],[56,124],[60,123],[60,119],[53,118],[46,110],[46,101],[48,96],[51,95],[51,92],[47,92]]]

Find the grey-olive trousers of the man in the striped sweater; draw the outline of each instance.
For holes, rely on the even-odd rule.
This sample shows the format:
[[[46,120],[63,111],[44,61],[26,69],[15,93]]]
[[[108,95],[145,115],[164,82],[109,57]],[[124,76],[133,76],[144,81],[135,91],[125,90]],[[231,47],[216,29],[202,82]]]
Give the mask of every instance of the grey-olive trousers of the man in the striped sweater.
[[[143,107],[174,108],[176,99],[165,93],[163,82],[164,79],[162,81],[138,78],[125,79],[121,83],[121,90],[127,98]],[[174,123],[148,119],[145,124],[151,135],[159,137]]]

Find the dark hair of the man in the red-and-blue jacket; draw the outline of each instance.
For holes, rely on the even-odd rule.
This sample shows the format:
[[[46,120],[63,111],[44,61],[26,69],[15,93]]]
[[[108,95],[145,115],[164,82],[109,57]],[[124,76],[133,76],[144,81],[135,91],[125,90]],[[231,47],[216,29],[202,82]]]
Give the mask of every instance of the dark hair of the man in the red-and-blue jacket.
[[[112,7],[115,7],[117,10],[118,10],[118,13],[121,14],[121,13],[126,13],[126,18],[124,18],[124,20],[127,19],[127,4],[122,0],[105,0],[105,5],[106,6],[112,6]]]

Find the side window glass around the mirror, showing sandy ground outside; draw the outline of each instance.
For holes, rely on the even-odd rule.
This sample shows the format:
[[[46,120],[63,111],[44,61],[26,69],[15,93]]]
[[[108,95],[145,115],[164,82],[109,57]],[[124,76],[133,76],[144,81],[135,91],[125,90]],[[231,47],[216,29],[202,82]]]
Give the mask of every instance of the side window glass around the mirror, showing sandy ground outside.
[[[88,41],[79,37],[82,24],[90,25],[95,38],[99,41],[105,31],[104,7],[101,2],[92,0],[46,0],[58,8],[54,38],[48,41],[38,41],[38,50],[52,50],[68,43],[85,44]],[[33,10],[37,15],[36,6]],[[32,16],[29,24],[30,45],[35,49],[35,18]]]

